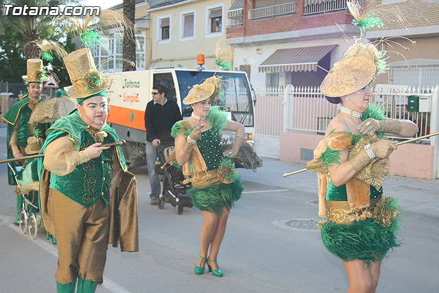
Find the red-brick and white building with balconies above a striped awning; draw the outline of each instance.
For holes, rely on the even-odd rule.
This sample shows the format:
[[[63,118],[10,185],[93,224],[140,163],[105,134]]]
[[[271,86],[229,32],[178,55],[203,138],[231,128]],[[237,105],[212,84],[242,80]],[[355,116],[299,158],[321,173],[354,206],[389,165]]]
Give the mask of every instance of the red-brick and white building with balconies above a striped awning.
[[[358,34],[344,0],[235,0],[228,11],[235,66],[263,86],[320,84]]]

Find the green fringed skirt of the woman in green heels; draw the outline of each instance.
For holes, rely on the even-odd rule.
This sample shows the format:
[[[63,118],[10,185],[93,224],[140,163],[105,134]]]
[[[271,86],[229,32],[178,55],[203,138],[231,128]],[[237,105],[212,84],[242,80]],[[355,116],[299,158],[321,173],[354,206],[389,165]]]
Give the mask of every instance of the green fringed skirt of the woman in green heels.
[[[224,207],[230,211],[233,204],[239,198],[244,190],[241,183],[241,176],[235,170],[228,175],[233,180],[232,183],[219,183],[218,185],[210,185],[202,188],[189,189],[191,202],[195,207],[202,211],[210,211],[211,213],[220,214]]]

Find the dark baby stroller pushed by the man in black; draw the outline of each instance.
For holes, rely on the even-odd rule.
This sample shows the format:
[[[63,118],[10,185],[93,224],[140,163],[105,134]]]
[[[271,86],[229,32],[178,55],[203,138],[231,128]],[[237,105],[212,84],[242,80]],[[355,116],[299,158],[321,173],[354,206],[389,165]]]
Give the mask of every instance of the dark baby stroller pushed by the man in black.
[[[169,194],[169,203],[176,208],[177,215],[183,213],[183,207],[192,207],[191,197],[187,191],[191,187],[191,183],[184,183],[185,176],[181,167],[165,164],[167,157],[174,150],[174,143],[157,146],[157,159],[155,172],[163,175],[163,193],[158,198],[158,209],[165,207],[166,196]]]

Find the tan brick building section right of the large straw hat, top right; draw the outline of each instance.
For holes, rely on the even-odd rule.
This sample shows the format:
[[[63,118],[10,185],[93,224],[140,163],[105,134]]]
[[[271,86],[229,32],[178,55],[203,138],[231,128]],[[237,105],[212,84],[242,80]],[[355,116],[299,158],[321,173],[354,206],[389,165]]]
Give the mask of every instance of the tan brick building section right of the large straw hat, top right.
[[[366,38],[372,42],[388,40],[383,42],[382,49],[393,54],[388,54],[388,73],[380,75],[377,83],[434,88],[439,84],[439,1],[383,0],[382,3],[383,10],[394,15],[385,19],[384,30],[370,30]],[[403,23],[396,21],[397,16],[401,16]]]

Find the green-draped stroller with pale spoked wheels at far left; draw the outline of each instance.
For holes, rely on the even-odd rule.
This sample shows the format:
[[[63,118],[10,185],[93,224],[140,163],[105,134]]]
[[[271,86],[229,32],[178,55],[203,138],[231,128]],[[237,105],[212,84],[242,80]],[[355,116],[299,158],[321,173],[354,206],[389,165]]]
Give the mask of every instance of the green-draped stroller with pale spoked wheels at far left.
[[[19,190],[23,196],[23,205],[20,211],[19,226],[21,233],[29,231],[31,239],[35,239],[38,227],[41,225],[41,216],[38,215],[38,173],[37,161],[26,161],[24,166],[15,166],[8,163],[14,174]]]

